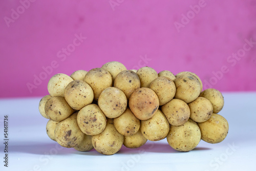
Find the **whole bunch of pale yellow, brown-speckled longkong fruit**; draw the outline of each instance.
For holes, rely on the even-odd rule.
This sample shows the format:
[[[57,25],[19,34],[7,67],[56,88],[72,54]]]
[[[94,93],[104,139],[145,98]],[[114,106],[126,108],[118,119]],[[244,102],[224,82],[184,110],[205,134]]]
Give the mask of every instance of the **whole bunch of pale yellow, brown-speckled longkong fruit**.
[[[54,75],[39,112],[49,119],[48,136],[63,147],[113,155],[122,145],[138,148],[166,137],[172,148],[187,152],[201,139],[219,143],[228,133],[227,120],[217,114],[222,94],[202,88],[195,73],[127,70],[112,61],[89,72]]]

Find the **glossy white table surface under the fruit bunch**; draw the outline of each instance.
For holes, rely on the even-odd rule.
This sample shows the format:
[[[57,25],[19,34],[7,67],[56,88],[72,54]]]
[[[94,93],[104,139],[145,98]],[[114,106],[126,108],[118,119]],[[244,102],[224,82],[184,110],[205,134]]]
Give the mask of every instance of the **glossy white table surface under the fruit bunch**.
[[[166,138],[140,148],[122,146],[111,156],[93,149],[64,148],[46,134],[40,98],[0,99],[0,170],[256,170],[256,92],[223,93],[219,113],[229,123],[224,141],[200,141],[190,152],[177,152]],[[4,115],[9,116],[9,163],[4,167]]]

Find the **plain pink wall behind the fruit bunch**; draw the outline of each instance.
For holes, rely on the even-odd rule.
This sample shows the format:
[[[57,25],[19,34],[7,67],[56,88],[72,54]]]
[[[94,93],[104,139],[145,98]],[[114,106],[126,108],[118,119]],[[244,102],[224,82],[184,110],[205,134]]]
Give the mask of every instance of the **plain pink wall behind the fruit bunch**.
[[[0,97],[44,96],[54,74],[89,71],[113,60],[127,69],[195,72],[204,88],[209,82],[220,91],[256,90],[256,45],[242,50],[245,39],[256,42],[256,1],[21,2],[27,9],[20,1],[0,1]],[[17,10],[19,16],[12,14]],[[177,29],[175,22],[184,25]],[[80,45],[63,58],[62,48],[74,47],[80,34],[87,38],[75,40]],[[54,61],[44,75],[43,67]],[[44,80],[30,92],[27,83],[34,84],[34,76]]]

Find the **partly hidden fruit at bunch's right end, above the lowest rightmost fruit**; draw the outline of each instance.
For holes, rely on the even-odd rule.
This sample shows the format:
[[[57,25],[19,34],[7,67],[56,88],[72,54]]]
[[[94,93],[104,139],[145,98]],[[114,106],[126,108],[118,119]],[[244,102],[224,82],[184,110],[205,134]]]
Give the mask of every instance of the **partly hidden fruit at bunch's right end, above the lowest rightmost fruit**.
[[[200,97],[210,100],[214,113],[219,113],[224,106],[224,98],[220,91],[216,89],[206,89],[200,95]]]

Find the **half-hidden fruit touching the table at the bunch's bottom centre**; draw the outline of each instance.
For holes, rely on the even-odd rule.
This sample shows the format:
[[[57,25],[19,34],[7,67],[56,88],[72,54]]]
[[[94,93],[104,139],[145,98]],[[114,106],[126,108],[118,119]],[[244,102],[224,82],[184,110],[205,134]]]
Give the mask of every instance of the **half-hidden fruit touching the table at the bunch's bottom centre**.
[[[131,136],[124,136],[123,145],[127,148],[138,148],[146,143],[147,139],[139,130],[136,134]]]

